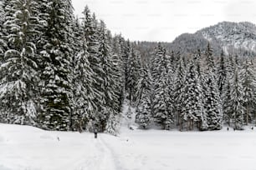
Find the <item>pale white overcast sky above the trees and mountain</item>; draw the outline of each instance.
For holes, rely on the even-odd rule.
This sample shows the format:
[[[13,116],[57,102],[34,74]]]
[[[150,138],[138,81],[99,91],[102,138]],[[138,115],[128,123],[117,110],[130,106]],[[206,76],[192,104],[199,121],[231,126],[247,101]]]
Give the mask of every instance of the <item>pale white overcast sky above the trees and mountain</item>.
[[[253,0],[72,0],[75,14],[87,4],[107,28],[132,41],[172,42],[184,32],[222,21],[256,23]]]

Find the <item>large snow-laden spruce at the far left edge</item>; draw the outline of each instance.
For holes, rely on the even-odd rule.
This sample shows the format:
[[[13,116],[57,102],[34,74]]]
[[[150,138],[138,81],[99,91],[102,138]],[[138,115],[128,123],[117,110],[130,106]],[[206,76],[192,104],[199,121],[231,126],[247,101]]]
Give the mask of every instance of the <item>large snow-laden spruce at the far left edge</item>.
[[[35,60],[38,34],[36,17],[38,6],[33,0],[5,1],[4,27],[8,35],[8,50],[4,53],[1,69],[1,105],[6,115],[3,122],[35,124],[37,107],[35,104],[38,64]]]

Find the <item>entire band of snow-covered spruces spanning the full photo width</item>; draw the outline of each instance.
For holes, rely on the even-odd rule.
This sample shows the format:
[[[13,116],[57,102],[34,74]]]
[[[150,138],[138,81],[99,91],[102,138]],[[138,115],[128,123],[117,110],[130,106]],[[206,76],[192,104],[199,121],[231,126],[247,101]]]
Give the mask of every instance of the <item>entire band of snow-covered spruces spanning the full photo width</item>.
[[[168,52],[112,36],[70,0],[0,4],[0,122],[116,133],[122,102],[141,128],[236,129],[255,117],[251,57]]]

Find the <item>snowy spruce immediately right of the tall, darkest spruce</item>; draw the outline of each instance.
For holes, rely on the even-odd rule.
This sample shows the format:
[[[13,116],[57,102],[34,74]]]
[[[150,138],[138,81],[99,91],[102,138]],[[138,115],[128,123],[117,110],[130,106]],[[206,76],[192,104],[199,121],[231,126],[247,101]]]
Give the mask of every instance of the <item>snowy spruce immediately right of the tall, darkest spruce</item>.
[[[93,74],[88,61],[89,52],[85,38],[84,25],[80,26],[78,20],[75,23],[75,35],[77,42],[77,50],[79,52],[74,57],[74,101],[72,113],[72,128],[82,131],[87,128],[90,118],[93,117],[93,108],[95,107],[94,90],[93,90]]]

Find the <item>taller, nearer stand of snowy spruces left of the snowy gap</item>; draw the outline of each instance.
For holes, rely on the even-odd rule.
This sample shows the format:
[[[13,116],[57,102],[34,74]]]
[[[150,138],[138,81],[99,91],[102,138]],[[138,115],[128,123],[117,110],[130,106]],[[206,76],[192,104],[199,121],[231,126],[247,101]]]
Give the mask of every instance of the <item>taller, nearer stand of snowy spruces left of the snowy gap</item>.
[[[125,90],[121,36],[70,0],[0,2],[0,121],[115,133]]]

